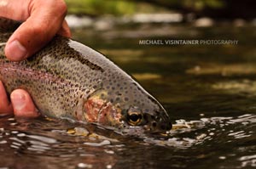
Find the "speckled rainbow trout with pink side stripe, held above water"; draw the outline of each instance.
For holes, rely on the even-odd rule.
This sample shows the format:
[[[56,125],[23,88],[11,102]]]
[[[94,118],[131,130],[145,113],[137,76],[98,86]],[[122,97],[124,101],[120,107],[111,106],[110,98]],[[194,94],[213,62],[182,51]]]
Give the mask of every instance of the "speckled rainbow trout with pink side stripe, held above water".
[[[160,132],[166,110],[131,76],[95,50],[56,36],[37,54],[11,62],[4,55],[15,21],[0,18],[0,80],[8,93],[23,88],[42,115],[122,130]]]

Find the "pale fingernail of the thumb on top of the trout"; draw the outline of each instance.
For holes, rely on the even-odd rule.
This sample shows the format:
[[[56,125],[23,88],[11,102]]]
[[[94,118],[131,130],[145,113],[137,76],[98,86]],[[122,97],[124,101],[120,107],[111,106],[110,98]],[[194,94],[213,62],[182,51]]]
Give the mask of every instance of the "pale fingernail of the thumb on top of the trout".
[[[7,48],[11,59],[14,59],[15,61],[19,61],[26,57],[26,48],[17,40],[10,42]]]

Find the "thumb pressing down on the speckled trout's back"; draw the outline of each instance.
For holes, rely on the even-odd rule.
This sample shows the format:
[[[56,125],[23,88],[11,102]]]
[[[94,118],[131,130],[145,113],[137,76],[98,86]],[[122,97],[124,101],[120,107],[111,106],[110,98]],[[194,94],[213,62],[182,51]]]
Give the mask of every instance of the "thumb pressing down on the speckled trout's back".
[[[65,14],[65,7],[59,8],[57,14],[45,11],[45,8],[34,10],[9,38],[5,47],[6,57],[12,61],[20,61],[35,54],[61,29]]]

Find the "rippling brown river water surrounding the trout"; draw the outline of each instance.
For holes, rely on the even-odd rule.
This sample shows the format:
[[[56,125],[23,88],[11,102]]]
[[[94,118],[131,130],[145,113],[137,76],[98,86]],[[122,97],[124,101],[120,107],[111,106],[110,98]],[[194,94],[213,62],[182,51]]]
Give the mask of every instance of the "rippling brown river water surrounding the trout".
[[[133,137],[93,125],[0,118],[0,168],[189,168],[256,166],[256,31],[247,25],[132,25],[73,30],[137,78],[174,128]],[[142,45],[140,40],[231,39],[238,44]]]

